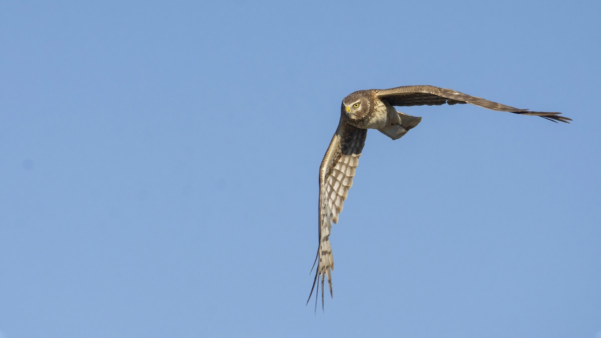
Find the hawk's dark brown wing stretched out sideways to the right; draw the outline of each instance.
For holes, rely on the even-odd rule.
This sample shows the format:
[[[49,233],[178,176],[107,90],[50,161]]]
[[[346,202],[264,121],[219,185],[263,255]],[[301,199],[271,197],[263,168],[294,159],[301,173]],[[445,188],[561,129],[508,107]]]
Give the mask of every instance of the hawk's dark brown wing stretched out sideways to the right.
[[[535,115],[546,118],[547,120],[562,121],[569,123],[572,118],[560,116],[561,112],[542,112],[528,111],[528,109],[519,109],[501,103],[485,100],[481,97],[470,96],[459,91],[434,87],[432,85],[406,85],[390,89],[374,90],[376,96],[386,99],[393,106],[421,106],[421,105],[454,105],[456,103],[470,103],[482,108],[496,111],[508,111],[515,114]]]

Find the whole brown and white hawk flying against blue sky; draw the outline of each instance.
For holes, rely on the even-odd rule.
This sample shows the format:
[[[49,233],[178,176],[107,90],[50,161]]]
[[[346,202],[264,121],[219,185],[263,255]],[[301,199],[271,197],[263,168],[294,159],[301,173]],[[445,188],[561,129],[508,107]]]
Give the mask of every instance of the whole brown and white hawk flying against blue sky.
[[[313,263],[313,268],[317,264],[317,271],[307,303],[311,300],[316,285],[317,297],[319,284],[321,284],[323,308],[325,277],[328,277],[330,295],[332,295],[334,259],[329,242],[330,231],[332,222],[338,223],[338,215],[342,211],[343,202],[353,184],[355,168],[359,163],[359,156],[361,156],[361,150],[365,144],[367,129],[377,129],[392,140],[397,140],[409,129],[415,128],[421,121],[421,117],[399,112],[394,106],[444,105],[445,103],[448,105],[470,103],[496,111],[540,116],[556,123],[557,121],[569,123],[572,120],[561,116],[559,112],[538,112],[513,108],[481,97],[431,85],[359,90],[349,94],[342,101],[338,128],[326,150],[326,155],[323,156],[322,165],[319,167],[319,247]]]

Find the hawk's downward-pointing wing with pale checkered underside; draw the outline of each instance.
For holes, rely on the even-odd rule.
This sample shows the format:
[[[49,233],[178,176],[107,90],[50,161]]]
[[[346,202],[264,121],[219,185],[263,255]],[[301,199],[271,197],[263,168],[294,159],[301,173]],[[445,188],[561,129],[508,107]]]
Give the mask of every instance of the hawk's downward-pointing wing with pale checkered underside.
[[[313,263],[313,267],[317,263],[317,271],[307,304],[317,285],[315,300],[317,306],[320,281],[322,284],[322,309],[325,276],[328,277],[330,295],[332,295],[334,257],[332,257],[332,247],[329,241],[330,230],[332,222],[338,223],[338,214],[342,211],[343,202],[350,186],[353,185],[355,168],[359,164],[359,156],[365,145],[365,135],[367,135],[367,129],[355,128],[340,120],[326,155],[323,156],[322,165],[319,167],[319,247]]]

